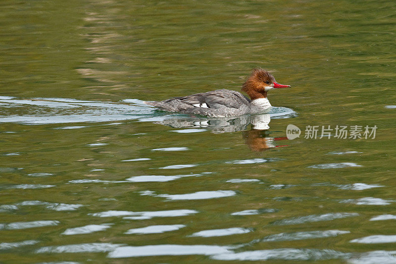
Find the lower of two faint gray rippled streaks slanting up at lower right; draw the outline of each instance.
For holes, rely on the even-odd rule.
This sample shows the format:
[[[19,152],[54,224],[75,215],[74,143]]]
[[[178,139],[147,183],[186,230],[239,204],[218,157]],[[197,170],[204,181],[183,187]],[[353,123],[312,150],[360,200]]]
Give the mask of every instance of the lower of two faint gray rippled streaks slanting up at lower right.
[[[342,234],[348,234],[350,231],[344,230],[324,230],[324,231],[302,231],[295,233],[280,233],[275,235],[269,235],[257,242],[271,242],[271,241],[293,241],[293,240],[304,240],[314,238],[325,238],[334,237]]]

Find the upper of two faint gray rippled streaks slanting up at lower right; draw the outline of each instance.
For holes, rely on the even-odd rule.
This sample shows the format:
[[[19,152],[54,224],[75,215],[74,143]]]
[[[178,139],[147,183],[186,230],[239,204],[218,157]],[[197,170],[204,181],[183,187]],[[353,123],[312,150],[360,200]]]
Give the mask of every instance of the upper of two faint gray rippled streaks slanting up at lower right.
[[[309,222],[319,222],[319,221],[330,221],[334,219],[341,219],[346,217],[358,216],[357,212],[330,212],[324,214],[311,214],[306,216],[299,216],[293,218],[287,218],[282,220],[277,220],[272,222],[273,225],[291,225],[291,224],[302,224]]]

